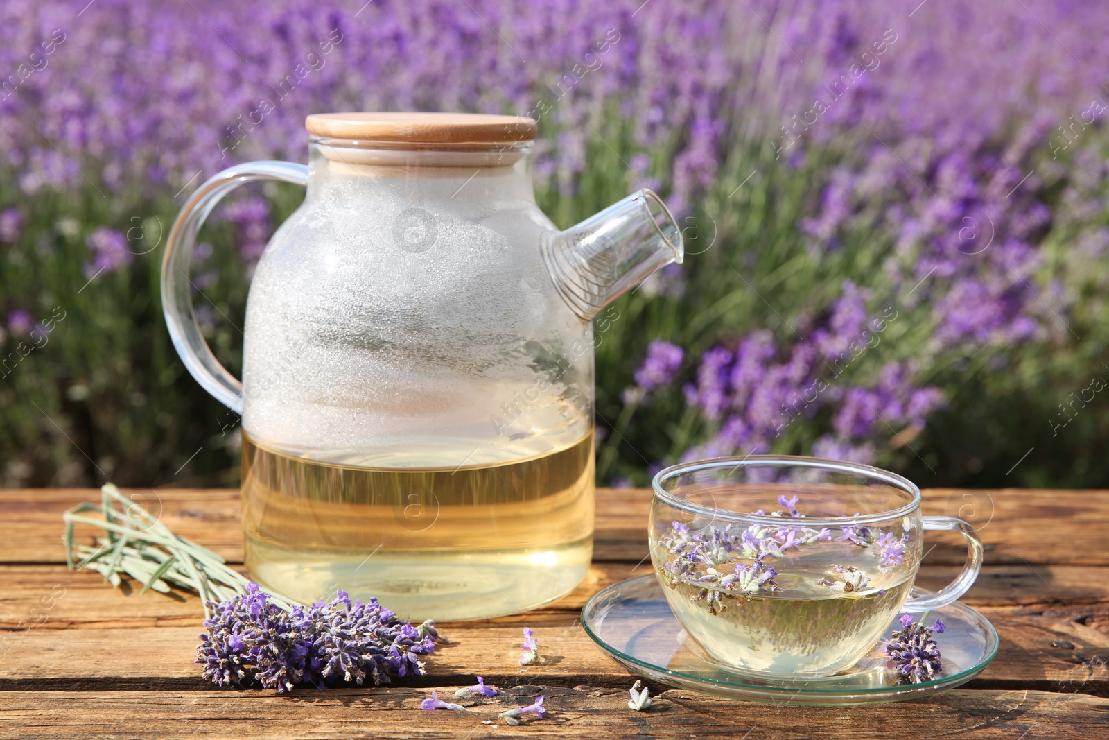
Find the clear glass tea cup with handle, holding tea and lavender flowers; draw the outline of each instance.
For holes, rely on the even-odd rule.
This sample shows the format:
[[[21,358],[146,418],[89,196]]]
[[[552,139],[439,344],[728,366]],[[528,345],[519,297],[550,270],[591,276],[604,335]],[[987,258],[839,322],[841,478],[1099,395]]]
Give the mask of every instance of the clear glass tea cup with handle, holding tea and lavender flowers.
[[[670,608],[706,655],[766,677],[847,670],[903,611],[938,609],[981,569],[955,517],[920,515],[920,490],[867,465],[747,456],[675,465],[653,480],[651,560]],[[924,530],[955,529],[958,578],[908,598]]]

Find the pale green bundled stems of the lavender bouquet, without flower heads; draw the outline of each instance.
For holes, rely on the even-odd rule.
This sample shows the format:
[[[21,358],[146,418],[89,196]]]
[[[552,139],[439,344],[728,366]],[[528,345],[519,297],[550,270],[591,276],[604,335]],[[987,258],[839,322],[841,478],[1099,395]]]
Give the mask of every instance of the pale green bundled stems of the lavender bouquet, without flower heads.
[[[230,568],[222,557],[174,535],[157,517],[124,497],[115,485],[104,485],[101,496],[100,506],[79,504],[62,515],[70,568],[95,570],[116,588],[122,585],[120,575],[125,574],[143,584],[144,591],[165,592],[170,584],[194,590],[204,602],[205,618],[212,617],[211,602],[225,601],[246,591],[250,581]],[[85,513],[98,513],[102,518],[83,516]],[[77,524],[100,527],[105,536],[96,539],[94,548],[77,545],[73,540]],[[269,600],[284,611],[294,607],[274,596]]]

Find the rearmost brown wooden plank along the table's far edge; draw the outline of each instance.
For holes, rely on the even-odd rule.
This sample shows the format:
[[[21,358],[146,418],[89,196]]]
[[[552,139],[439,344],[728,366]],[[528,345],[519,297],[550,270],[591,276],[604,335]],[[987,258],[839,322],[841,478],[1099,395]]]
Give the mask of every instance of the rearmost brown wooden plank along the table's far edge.
[[[237,490],[166,488],[126,494],[176,534],[203,541],[231,562],[242,561]],[[19,538],[0,541],[0,562],[63,561],[62,511],[83,500],[99,500],[99,495],[84,488],[0,490],[0,511],[20,533]],[[596,560],[637,561],[647,555],[650,500],[650,493],[642,489],[598,491]],[[1076,528],[1109,531],[1107,490],[936,488],[924,491],[924,510],[970,520],[986,543],[987,562],[1109,565],[1109,548],[1076,545],[1075,534]],[[929,538],[939,543],[929,555],[932,562],[962,562],[965,548],[956,538]]]

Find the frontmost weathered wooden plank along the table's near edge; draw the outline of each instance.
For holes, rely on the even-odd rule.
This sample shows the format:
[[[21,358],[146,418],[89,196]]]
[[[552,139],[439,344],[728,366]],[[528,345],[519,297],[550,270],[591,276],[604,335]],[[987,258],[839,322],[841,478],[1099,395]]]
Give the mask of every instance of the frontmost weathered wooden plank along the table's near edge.
[[[441,692],[454,687],[440,686]],[[510,727],[507,708],[545,697],[545,719]],[[1109,736],[1101,699],[1040,691],[952,691],[895,706],[739,704],[678,689],[647,712],[628,709],[624,690],[521,686],[466,700],[466,711],[421,711],[427,689],[306,691],[0,692],[0,738],[935,738],[969,740]],[[482,721],[491,724],[482,724]]]

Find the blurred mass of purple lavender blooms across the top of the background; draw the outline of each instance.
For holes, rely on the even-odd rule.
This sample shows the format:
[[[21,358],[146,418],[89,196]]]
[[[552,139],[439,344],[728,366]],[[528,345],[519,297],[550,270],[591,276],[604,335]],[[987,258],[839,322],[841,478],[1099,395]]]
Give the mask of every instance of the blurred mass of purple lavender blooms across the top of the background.
[[[804,132],[788,153],[794,166],[811,142],[858,128],[858,121],[868,121],[898,152],[875,146],[867,154],[869,166],[844,166],[832,178],[817,214],[804,224],[830,243],[841,226],[866,217],[868,193],[904,189],[910,196],[930,196],[912,174],[928,171],[929,164],[937,182],[928,187],[943,201],[934,217],[957,220],[960,207],[993,192],[978,184],[975,153],[1014,121],[1024,123],[1001,156],[988,163],[991,172],[1016,170],[1014,163],[1032,148],[1048,152],[1049,141],[1067,141],[1056,130],[1067,120],[1060,111],[1079,112],[1089,91],[1099,90],[1102,65],[1097,62],[1109,45],[1088,33],[1109,22],[1109,10],[1097,0],[1080,0],[1067,12],[1048,0],[1028,0],[1028,11],[998,0],[955,0],[946,13],[918,13],[913,33],[899,37],[884,34],[893,18],[879,0],[831,6],[810,0],[790,6],[787,13],[779,1],[760,1],[754,7],[760,17],[787,17],[781,31],[787,44],[767,48],[757,68],[772,74],[750,70],[745,50],[764,42],[766,31],[750,23],[752,11],[743,3],[683,0],[641,7],[622,0],[573,13],[551,1],[533,3],[522,14],[513,12],[510,0],[474,0],[472,9],[426,1],[368,8],[307,0],[190,4],[195,10],[170,3],[135,13],[128,3],[113,2],[95,18],[83,16],[89,32],[69,34],[50,57],[49,94],[32,80],[0,102],[0,154],[18,169],[26,189],[82,182],[48,141],[106,162],[103,181],[112,189],[150,181],[169,183],[172,192],[200,169],[303,156],[303,114],[309,110],[507,109],[530,112],[560,132],[545,142],[536,173],[543,186],[572,190],[588,145],[597,143],[590,140],[604,134],[598,128],[601,116],[614,104],[629,119],[633,169],[642,175],[650,158],[651,174],[663,175],[671,204],[683,211],[718,179],[723,150],[735,138],[736,110],[764,121],[763,132],[745,131],[770,139],[780,125],[813,120],[805,111],[818,97],[831,101],[830,108],[815,123],[801,124]],[[28,50],[42,40],[41,29],[53,28],[67,8],[61,0],[7,3],[0,67],[26,63]],[[1035,21],[1044,14],[1056,21],[1051,37]],[[421,22],[429,16],[435,23]],[[698,42],[674,44],[674,32]],[[875,58],[873,44],[883,38],[884,52]],[[1021,43],[1013,44],[1014,38]],[[528,63],[500,53],[499,39],[525,45]],[[604,51],[590,52],[584,62],[596,60],[600,67],[566,89],[566,73],[583,63],[584,49],[600,42]],[[1069,59],[1060,61],[1064,45],[1078,49],[1088,63],[1075,68]],[[804,62],[790,51],[797,48],[812,50]],[[296,82],[295,100],[288,100],[289,93],[276,88],[309,52],[319,63]],[[828,83],[836,84],[863,52],[881,68],[830,97]],[[252,63],[244,64],[240,54]],[[145,59],[166,63],[135,63]],[[976,70],[973,78],[960,74],[968,64]],[[128,73],[120,74],[121,69]],[[471,69],[484,74],[470,74]],[[552,79],[558,80],[553,85]],[[104,80],[112,84],[105,87]],[[491,88],[488,80],[498,84]],[[273,110],[261,112],[263,98]],[[540,100],[546,107],[537,107]],[[28,125],[32,120],[41,135]],[[1068,154],[1082,141],[1068,144]],[[655,154],[663,146],[674,146],[664,160]],[[905,172],[886,166],[896,164],[895,156],[908,164]],[[935,162],[920,161],[928,158]],[[1021,176],[996,178],[999,197]],[[1042,219],[1035,210],[1014,206],[1015,215],[1028,216],[1022,229]]]

